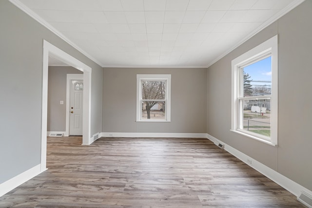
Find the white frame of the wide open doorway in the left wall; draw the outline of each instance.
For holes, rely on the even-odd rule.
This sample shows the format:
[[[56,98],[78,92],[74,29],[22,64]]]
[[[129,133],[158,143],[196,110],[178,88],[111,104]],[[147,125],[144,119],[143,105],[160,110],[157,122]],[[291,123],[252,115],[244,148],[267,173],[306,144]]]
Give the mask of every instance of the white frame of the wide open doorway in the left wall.
[[[49,55],[83,72],[83,130],[82,144],[91,144],[91,67],[70,56],[46,40],[43,40],[42,68],[42,112],[41,112],[41,160],[40,170],[46,170],[47,157],[47,114],[48,114],[48,61]]]

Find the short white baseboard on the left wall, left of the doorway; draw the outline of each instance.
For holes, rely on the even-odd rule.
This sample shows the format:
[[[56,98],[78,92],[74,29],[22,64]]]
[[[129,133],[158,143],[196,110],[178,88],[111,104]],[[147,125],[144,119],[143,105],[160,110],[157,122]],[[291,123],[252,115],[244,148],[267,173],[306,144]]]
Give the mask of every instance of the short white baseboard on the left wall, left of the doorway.
[[[41,173],[40,164],[0,184],[0,197]]]

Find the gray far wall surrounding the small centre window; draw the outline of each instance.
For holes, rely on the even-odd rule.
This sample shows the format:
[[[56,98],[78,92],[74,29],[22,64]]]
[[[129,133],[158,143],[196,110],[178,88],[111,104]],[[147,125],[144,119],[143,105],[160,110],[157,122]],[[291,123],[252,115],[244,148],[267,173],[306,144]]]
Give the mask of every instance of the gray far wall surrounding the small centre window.
[[[137,74],[171,74],[171,122],[136,122]],[[105,68],[103,132],[206,132],[207,69]]]

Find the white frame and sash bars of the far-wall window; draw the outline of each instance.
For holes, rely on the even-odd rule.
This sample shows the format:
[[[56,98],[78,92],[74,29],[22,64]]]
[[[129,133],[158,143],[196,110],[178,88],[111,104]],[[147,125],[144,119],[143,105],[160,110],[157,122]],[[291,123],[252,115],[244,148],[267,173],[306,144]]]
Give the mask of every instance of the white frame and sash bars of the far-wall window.
[[[165,100],[161,99],[159,102],[165,102],[165,119],[163,120],[156,120],[156,119],[142,119],[142,88],[141,88],[141,81],[148,80],[148,81],[161,81],[166,80],[166,95]],[[144,99],[148,101],[147,99]],[[154,100],[158,101],[158,100]],[[171,75],[153,75],[153,74],[137,74],[137,122],[171,122]]]

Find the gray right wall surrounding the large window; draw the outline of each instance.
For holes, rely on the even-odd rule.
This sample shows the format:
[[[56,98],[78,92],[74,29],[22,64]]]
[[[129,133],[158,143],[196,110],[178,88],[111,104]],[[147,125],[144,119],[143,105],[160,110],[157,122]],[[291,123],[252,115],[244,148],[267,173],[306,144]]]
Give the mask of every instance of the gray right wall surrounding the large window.
[[[312,1],[303,2],[217,61],[207,73],[207,132],[310,190],[311,11]],[[276,34],[279,35],[278,147],[273,147],[230,132],[231,61]]]

